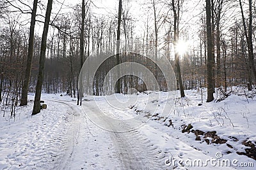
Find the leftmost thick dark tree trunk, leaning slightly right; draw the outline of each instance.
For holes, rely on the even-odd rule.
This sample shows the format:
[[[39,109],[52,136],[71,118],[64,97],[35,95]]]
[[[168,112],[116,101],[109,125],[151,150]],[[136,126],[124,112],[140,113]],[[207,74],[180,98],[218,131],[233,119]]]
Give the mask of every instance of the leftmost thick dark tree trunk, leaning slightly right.
[[[28,59],[27,59],[24,83],[23,83],[22,92],[21,92],[20,106],[24,106],[28,104],[28,89],[29,89],[29,80],[31,75],[33,49],[34,49],[34,30],[35,30],[35,22],[36,22],[37,2],[38,0],[34,0],[33,10],[31,14],[31,24],[29,29]]]

